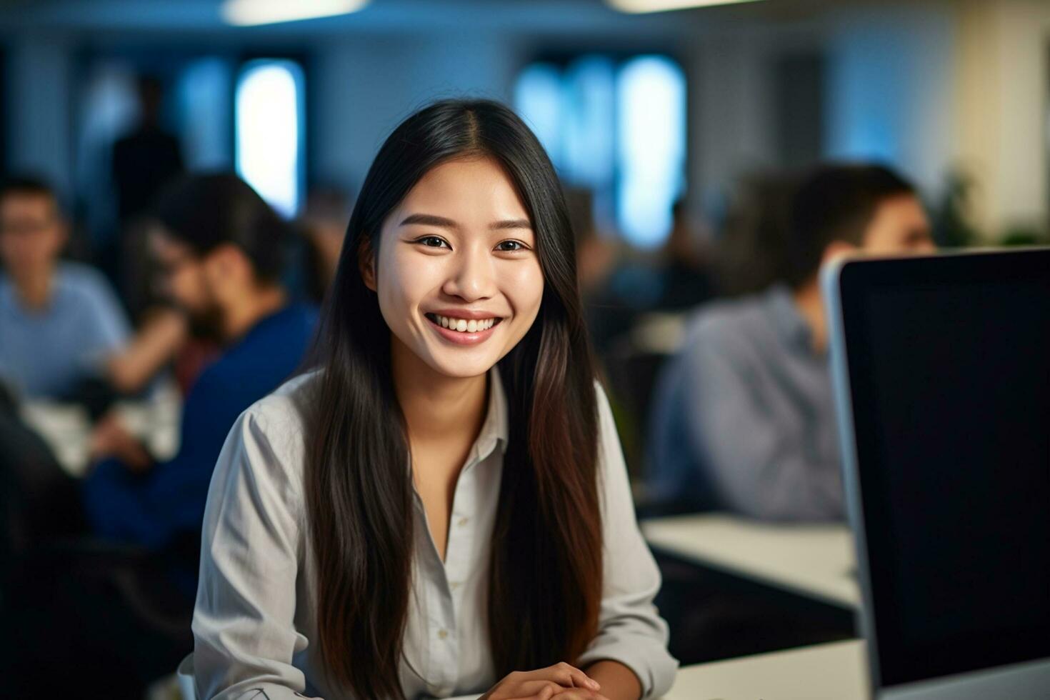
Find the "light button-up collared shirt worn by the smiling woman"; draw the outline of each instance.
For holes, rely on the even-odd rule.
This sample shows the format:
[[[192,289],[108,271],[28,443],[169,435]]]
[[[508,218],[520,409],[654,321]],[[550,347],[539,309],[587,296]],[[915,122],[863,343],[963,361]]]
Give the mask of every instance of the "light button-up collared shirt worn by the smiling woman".
[[[349,698],[326,678],[309,643],[317,610],[299,407],[308,381],[293,379],[245,411],[215,466],[193,614],[198,698]],[[499,680],[488,645],[487,582],[509,433],[495,368],[489,386],[485,422],[456,484],[444,561],[415,494],[415,576],[400,663],[410,699],[483,693]],[[677,667],[667,652],[667,623],[652,604],[659,571],[634,517],[609,403],[596,390],[604,592],[598,634],[579,662],[620,661],[640,680],[643,697],[658,696]]]

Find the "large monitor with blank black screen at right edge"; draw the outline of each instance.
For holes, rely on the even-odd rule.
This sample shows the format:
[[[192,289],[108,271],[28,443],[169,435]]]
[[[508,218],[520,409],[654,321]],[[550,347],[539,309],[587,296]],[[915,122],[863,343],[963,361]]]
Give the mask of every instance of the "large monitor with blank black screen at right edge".
[[[1050,249],[821,284],[872,697],[1050,698]]]

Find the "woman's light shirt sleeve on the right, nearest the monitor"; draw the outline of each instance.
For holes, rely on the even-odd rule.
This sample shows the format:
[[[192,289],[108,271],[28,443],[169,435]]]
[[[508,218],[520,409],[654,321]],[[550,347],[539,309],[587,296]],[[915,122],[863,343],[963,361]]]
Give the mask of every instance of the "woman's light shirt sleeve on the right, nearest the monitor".
[[[678,667],[667,651],[667,622],[653,606],[659,569],[634,516],[627,465],[601,386],[597,405],[604,591],[597,637],[579,662],[586,667],[603,659],[618,661],[638,677],[643,698],[659,697],[671,688]]]

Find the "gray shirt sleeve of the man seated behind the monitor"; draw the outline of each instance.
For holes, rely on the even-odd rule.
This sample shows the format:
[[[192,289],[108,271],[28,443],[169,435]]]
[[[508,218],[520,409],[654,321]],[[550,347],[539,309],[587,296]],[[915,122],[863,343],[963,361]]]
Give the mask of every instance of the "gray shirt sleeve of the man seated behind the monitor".
[[[746,348],[701,335],[685,358],[691,448],[736,510],[765,519],[842,516],[837,463],[821,462],[762,401]]]

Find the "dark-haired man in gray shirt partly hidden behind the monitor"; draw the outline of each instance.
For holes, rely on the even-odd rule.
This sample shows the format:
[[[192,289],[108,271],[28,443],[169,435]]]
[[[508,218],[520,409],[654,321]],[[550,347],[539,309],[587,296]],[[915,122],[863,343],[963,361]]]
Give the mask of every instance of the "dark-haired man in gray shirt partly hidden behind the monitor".
[[[915,189],[880,166],[824,166],[790,213],[786,279],[700,309],[657,385],[657,497],[778,521],[843,516],[824,307],[827,260],[931,252]]]

